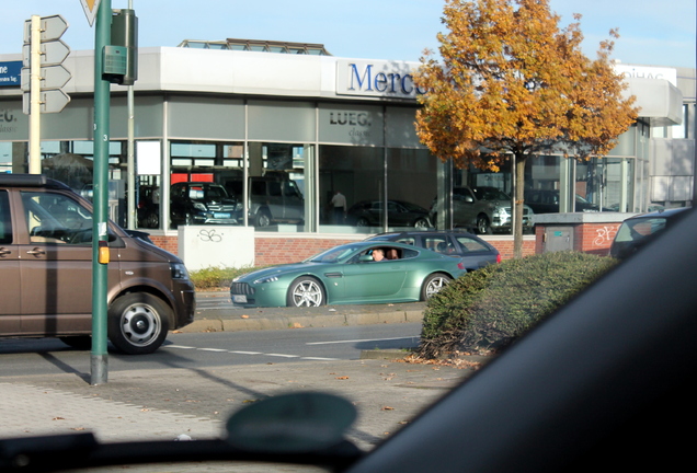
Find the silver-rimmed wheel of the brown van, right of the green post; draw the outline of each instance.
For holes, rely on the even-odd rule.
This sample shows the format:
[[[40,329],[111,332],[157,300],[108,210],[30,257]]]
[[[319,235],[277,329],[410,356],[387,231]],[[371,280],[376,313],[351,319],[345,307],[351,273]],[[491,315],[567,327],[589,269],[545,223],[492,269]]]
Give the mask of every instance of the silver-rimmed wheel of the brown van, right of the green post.
[[[108,309],[108,339],[127,355],[152,353],[167,337],[170,314],[170,308],[152,295],[122,296]]]

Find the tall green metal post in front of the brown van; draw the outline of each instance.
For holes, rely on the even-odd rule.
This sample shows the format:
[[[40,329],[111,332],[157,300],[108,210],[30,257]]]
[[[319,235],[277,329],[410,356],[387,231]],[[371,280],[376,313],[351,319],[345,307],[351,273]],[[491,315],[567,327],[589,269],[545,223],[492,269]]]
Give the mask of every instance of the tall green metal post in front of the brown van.
[[[108,115],[110,82],[102,79],[104,46],[111,42],[112,2],[102,0],[94,33],[94,217],[92,229],[92,354],[91,384],[107,379],[106,277],[107,265],[100,263],[100,243],[108,241]]]

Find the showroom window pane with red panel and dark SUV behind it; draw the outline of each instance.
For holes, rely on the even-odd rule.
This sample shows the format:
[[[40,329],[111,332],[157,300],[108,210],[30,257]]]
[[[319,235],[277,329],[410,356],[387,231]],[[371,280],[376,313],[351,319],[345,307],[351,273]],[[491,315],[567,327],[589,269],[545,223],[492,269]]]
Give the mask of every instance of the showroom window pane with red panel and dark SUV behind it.
[[[241,206],[235,193],[243,178],[243,150],[242,142],[171,142],[170,228],[238,224]]]

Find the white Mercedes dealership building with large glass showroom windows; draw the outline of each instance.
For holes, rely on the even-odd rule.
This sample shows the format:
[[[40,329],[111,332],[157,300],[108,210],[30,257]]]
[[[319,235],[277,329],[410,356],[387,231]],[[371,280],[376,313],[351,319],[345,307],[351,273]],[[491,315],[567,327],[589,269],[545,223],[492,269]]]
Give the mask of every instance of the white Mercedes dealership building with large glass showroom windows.
[[[60,113],[42,114],[41,128],[42,171],[85,196],[92,186],[93,64],[92,50],[69,55],[64,66],[72,78],[64,91],[71,100]],[[18,65],[21,55],[0,56],[0,172],[28,170],[30,120]],[[419,142],[418,68],[339,58],[322,45],[294,43],[185,41],[141,48],[132,152],[127,88],[112,85],[112,218],[147,229],[159,242],[175,241],[181,216],[171,186],[210,182],[237,198],[240,224],[317,239],[404,226],[398,223],[404,209],[390,206],[429,209],[436,196],[447,200],[454,186],[510,193],[506,166],[498,173],[452,169]],[[529,159],[526,189],[557,192],[560,211],[568,212],[576,210],[575,198],[568,198],[574,194],[620,212],[692,205],[695,70],[620,64],[617,71],[641,107],[636,124],[604,159]],[[367,203],[387,212],[367,227],[356,227],[351,215],[336,219],[336,192],[347,207]],[[447,215],[438,218],[431,223],[447,226]]]

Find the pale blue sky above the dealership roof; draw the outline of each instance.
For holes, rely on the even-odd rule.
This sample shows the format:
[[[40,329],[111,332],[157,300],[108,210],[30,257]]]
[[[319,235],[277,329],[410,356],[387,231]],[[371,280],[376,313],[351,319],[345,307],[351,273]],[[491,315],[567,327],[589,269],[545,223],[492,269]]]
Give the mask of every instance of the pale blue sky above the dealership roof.
[[[586,56],[619,28],[613,58],[625,64],[695,68],[697,0],[550,0],[561,26],[582,14]],[[436,50],[443,0],[133,0],[139,46],[178,46],[183,39],[274,39],[319,43],[334,56],[418,61]],[[113,9],[128,0],[112,0]],[[0,54],[20,54],[32,14],[62,15],[62,41],[72,50],[94,47],[80,0],[4,0]]]

